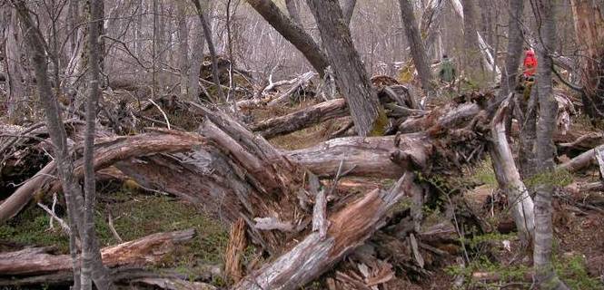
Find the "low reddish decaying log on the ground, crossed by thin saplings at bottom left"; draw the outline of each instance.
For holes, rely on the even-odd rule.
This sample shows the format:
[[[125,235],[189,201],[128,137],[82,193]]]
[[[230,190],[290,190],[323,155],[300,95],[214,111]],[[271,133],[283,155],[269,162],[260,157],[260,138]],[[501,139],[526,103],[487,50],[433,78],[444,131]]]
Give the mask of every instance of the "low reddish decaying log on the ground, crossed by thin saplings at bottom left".
[[[159,262],[163,256],[173,251],[176,244],[192,239],[193,229],[157,233],[134,241],[125,242],[101,250],[105,266],[144,266]],[[41,275],[61,271],[71,271],[73,263],[69,255],[48,254],[49,248],[35,247],[1,253],[0,273],[2,275]]]

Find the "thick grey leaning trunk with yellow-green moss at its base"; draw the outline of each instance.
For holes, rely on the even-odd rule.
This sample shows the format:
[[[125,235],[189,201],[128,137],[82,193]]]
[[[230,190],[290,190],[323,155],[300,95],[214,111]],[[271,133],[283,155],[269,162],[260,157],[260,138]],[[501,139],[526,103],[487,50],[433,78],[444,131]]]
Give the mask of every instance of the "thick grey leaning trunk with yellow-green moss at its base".
[[[348,25],[337,0],[307,0],[319,25],[322,43],[332,61],[335,81],[351,109],[352,121],[360,136],[381,135],[388,119],[371,88],[361,57],[352,43]]]

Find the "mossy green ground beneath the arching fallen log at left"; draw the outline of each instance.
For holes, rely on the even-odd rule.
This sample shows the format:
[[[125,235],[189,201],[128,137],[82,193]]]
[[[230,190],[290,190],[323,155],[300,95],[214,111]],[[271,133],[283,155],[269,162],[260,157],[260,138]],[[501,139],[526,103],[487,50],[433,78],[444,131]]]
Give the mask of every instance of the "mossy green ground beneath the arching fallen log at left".
[[[161,267],[180,267],[193,271],[196,266],[223,262],[228,231],[223,225],[201,213],[193,205],[166,196],[146,196],[132,192],[105,195],[111,199],[115,230],[124,241],[157,232],[195,228],[197,236],[165,256]],[[95,214],[96,234],[104,247],[117,244],[107,224],[108,203],[98,203]],[[66,217],[62,217],[65,218]],[[69,252],[69,237],[55,224],[48,230],[49,217],[42,208],[25,209],[0,227],[0,240],[20,246],[54,246],[59,253]]]

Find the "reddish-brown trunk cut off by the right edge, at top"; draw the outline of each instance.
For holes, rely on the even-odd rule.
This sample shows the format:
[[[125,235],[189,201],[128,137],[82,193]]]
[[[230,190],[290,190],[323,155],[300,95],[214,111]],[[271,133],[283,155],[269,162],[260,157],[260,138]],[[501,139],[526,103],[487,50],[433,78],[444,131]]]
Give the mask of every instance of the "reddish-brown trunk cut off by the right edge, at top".
[[[589,117],[604,121],[604,4],[572,0],[577,42],[585,57],[581,60],[583,106]]]

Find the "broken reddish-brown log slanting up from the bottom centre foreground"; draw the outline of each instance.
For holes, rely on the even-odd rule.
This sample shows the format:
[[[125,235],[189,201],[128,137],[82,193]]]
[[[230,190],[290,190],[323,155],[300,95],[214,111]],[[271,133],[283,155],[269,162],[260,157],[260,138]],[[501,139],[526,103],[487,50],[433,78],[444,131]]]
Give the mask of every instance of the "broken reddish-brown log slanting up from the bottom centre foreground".
[[[350,253],[380,227],[402,197],[402,179],[389,191],[375,189],[335,213],[326,237],[312,233],[272,263],[246,276],[233,290],[298,289]]]

